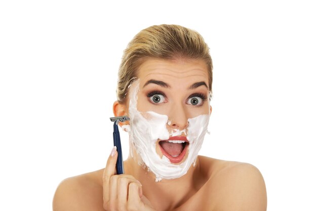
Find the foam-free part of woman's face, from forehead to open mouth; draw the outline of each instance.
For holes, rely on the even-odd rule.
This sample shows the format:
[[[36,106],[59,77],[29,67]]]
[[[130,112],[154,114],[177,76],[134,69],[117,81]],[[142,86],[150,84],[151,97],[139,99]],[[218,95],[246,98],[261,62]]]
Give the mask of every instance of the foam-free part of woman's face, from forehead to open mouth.
[[[181,163],[188,155],[188,119],[211,112],[208,78],[207,65],[201,60],[149,59],[139,68],[137,110],[166,115],[170,133],[175,129],[183,131],[170,137],[170,142],[157,140],[155,144],[156,153],[166,155],[171,163]],[[171,140],[185,142],[177,147]],[[186,153],[181,153],[183,150]]]

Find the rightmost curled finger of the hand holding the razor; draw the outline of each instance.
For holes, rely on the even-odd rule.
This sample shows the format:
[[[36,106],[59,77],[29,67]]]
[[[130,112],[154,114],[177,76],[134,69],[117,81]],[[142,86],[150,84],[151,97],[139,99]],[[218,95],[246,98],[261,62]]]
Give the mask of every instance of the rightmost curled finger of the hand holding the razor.
[[[128,209],[139,210],[141,205],[142,186],[139,183],[132,182],[129,184]]]

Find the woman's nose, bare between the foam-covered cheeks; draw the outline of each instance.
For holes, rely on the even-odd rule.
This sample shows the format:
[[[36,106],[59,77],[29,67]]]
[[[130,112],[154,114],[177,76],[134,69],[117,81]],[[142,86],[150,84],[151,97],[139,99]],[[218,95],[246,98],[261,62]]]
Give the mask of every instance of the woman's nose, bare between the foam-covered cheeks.
[[[169,126],[173,129],[183,130],[188,127],[186,110],[182,104],[174,104],[169,114]]]

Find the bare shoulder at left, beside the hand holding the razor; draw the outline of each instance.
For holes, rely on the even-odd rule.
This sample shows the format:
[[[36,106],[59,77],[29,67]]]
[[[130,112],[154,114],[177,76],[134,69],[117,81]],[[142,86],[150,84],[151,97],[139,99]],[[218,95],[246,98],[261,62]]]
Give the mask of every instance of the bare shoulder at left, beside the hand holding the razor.
[[[98,170],[63,180],[56,189],[53,210],[104,210],[102,172]]]

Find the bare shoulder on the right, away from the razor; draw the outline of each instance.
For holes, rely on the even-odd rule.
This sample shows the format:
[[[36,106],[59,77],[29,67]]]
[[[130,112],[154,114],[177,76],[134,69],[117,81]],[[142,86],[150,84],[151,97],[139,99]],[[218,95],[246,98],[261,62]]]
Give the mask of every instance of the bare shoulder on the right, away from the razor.
[[[266,187],[255,166],[209,157],[204,159],[205,165],[211,166],[206,185],[215,210],[266,210]]]

